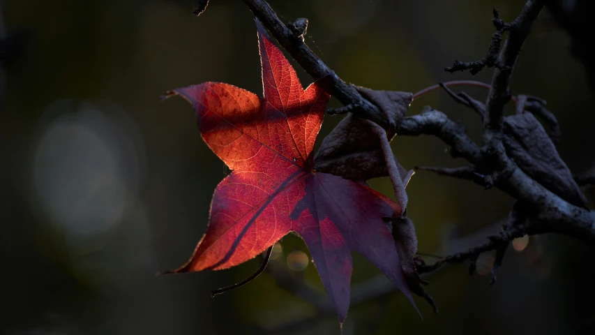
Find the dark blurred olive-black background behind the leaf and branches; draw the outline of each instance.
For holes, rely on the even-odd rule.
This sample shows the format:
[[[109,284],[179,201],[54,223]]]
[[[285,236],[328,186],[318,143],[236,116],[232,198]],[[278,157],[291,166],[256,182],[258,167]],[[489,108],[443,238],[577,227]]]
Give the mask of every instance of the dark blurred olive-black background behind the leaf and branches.
[[[283,20],[308,17],[306,42],[343,80],[418,91],[446,80],[455,59],[483,57],[492,7],[513,20],[513,0],[271,0]],[[6,64],[0,101],[0,313],[7,334],[259,334],[315,317],[307,301],[269,274],[211,299],[210,290],[251,274],[234,269],[155,276],[185,262],[206,230],[213,189],[229,173],[202,142],[182,99],[167,89],[205,81],[262,92],[256,29],[237,0],[212,0],[200,17],[191,0],[6,0],[9,32],[26,31],[22,56]],[[513,94],[548,101],[562,126],[559,152],[575,173],[595,163],[594,99],[569,39],[544,11],[515,68]],[[311,78],[298,68],[304,85]],[[467,93],[483,100],[485,90]],[[443,92],[423,96],[481,138],[473,112]],[[331,101],[331,106],[339,103]],[[326,117],[321,137],[338,118]],[[399,137],[406,168],[457,166],[434,137]],[[388,180],[372,186],[391,193]],[[419,251],[445,255],[497,230],[513,200],[499,191],[418,172],[408,186]],[[281,242],[285,255],[306,251]],[[513,248],[496,285],[463,265],[428,276],[441,313],[418,299],[423,320],[399,293],[352,306],[345,334],[594,334],[594,249],[564,237]],[[489,269],[489,257],[479,269]],[[291,270],[287,270],[291,271]],[[484,271],[485,272],[485,271]],[[353,283],[379,274],[354,257]],[[321,290],[315,268],[303,272]],[[292,327],[338,334],[333,315]],[[287,329],[286,329],[287,330]]]

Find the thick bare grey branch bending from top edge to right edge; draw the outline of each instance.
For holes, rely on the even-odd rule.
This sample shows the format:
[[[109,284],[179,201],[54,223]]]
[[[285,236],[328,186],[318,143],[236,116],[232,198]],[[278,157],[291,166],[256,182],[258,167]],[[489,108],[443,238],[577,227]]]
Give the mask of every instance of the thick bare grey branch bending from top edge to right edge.
[[[499,60],[510,70],[496,69],[492,77],[486,107],[483,141],[483,161],[470,161],[478,166],[490,166],[497,174],[496,186],[513,198],[530,204],[538,211],[540,230],[548,229],[582,239],[595,241],[595,216],[591,211],[576,207],[538,184],[522,172],[507,156],[502,144],[503,109],[510,98],[512,69],[529,34],[532,23],[543,8],[543,0],[529,0],[520,15],[510,24]],[[442,138],[442,137],[441,137]],[[545,228],[547,227],[547,228]]]

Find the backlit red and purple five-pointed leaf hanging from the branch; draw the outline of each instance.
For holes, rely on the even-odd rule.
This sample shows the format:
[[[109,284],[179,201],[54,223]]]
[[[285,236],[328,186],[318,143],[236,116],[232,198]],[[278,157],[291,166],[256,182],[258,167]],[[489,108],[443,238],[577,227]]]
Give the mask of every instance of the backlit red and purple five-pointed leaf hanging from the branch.
[[[217,82],[167,93],[195,107],[204,142],[232,170],[215,190],[206,234],[186,265],[173,272],[227,269],[296,232],[341,322],[349,308],[352,250],[413,303],[383,221],[402,209],[368,186],[314,170],[312,149],[329,94],[316,82],[304,91],[259,22],[257,29],[264,99]]]

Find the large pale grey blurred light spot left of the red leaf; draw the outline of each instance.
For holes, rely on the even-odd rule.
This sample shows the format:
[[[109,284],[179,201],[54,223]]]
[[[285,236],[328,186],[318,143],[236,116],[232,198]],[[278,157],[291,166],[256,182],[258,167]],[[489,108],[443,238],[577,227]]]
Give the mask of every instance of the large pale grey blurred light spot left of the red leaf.
[[[135,126],[117,105],[61,100],[45,111],[33,152],[33,192],[70,243],[121,223],[140,183]]]

